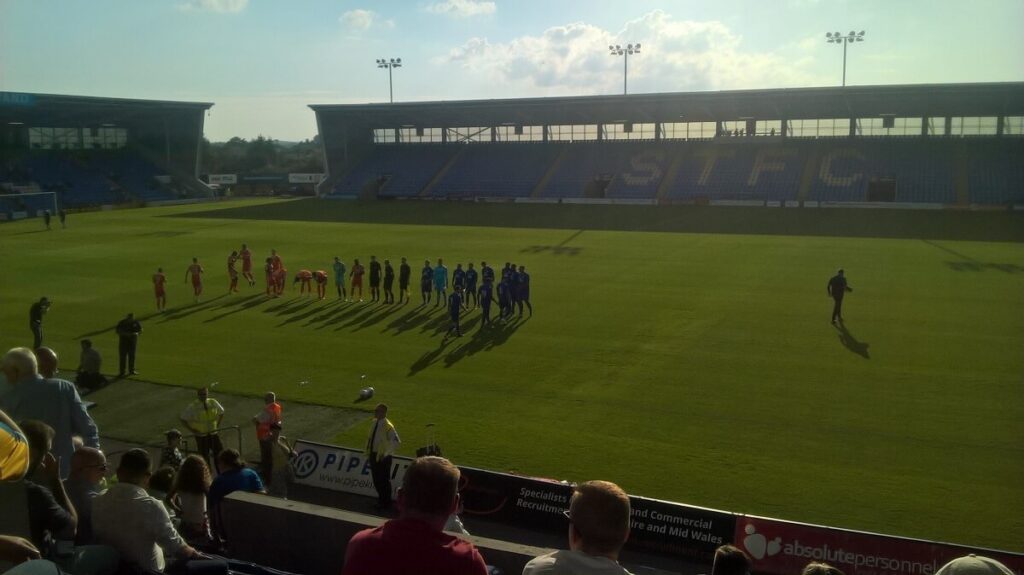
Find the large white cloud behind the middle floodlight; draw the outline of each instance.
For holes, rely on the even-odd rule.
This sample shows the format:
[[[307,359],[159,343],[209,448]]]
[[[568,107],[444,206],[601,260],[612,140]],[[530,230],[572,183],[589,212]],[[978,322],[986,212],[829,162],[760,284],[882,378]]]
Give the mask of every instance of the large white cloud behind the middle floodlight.
[[[623,62],[608,54],[608,46],[638,42],[642,51],[629,60],[631,92],[821,83],[807,72],[816,44],[755,52],[744,49],[742,38],[720,21],[679,20],[660,10],[628,23],[620,32],[575,23],[505,43],[472,38],[441,59],[521,93],[536,93],[538,88],[551,95],[615,93],[622,87]]]

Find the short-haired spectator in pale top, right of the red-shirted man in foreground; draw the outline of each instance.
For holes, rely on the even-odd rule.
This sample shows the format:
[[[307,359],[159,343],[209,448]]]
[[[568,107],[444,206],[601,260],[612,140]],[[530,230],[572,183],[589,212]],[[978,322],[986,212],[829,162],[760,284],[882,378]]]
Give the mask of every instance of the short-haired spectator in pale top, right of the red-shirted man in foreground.
[[[575,487],[569,500],[569,548],[534,558],[523,575],[593,573],[629,575],[618,551],[630,536],[630,498],[608,481]]]

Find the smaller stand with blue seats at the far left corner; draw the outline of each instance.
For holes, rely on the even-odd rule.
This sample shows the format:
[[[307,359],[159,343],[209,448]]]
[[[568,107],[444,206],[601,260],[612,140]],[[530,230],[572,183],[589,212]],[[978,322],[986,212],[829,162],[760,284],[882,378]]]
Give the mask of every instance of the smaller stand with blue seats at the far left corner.
[[[0,92],[0,189],[69,209],[210,196],[198,157],[211,105]],[[42,209],[51,196],[0,201],[8,219]]]

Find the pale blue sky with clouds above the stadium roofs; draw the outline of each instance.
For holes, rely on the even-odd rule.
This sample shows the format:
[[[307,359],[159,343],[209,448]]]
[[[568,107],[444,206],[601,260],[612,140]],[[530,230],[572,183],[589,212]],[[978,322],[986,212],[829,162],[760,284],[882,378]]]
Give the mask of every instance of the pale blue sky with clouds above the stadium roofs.
[[[308,103],[1024,81],[1024,0],[0,0],[0,90],[212,101],[294,140]]]

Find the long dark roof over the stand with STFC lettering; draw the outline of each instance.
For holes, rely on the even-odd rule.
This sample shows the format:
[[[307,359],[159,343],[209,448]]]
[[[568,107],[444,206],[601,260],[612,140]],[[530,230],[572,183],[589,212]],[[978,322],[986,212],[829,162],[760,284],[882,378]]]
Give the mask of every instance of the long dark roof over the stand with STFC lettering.
[[[325,120],[374,127],[1024,116],[1024,82],[311,104],[309,107]]]

